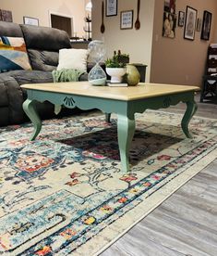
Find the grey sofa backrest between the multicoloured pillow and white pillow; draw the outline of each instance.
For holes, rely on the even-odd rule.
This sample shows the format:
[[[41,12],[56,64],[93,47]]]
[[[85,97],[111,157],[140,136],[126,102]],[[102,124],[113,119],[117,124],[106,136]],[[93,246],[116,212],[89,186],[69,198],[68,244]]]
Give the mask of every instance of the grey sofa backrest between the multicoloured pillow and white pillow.
[[[20,25],[27,45],[30,64],[33,70],[54,70],[58,65],[58,53],[62,48],[71,48],[65,31]]]

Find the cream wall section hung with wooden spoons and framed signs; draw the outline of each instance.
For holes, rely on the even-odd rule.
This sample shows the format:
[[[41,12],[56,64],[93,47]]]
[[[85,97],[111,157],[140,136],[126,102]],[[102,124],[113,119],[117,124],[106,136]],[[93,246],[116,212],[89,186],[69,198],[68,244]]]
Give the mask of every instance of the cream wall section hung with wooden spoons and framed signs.
[[[104,40],[107,46],[107,57],[111,57],[114,50],[120,49],[123,53],[129,54],[130,62],[147,64],[147,82],[150,79],[151,68],[154,2],[154,0],[141,1],[139,15],[141,27],[136,31],[134,28],[120,30],[120,11],[133,9],[135,22],[137,0],[118,0],[118,14],[113,17],[104,17],[105,32],[102,34],[100,32],[102,1],[92,0],[92,38]]]

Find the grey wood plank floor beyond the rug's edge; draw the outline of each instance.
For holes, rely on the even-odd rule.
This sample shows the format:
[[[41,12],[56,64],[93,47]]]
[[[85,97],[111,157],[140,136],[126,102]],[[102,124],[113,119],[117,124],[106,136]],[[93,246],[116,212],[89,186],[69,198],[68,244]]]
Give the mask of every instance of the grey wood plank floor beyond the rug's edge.
[[[217,105],[198,105],[196,115],[217,119]],[[179,104],[165,111],[185,108]],[[217,159],[101,254],[119,255],[216,256]]]

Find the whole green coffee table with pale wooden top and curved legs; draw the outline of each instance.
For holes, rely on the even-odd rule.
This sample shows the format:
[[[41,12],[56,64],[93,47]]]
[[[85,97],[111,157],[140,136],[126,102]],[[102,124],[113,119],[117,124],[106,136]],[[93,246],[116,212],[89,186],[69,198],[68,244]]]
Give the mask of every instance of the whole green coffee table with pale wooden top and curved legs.
[[[187,104],[187,110],[181,121],[184,134],[191,137],[188,123],[197,110],[194,101],[199,87],[139,83],[138,86],[109,87],[92,86],[88,82],[73,83],[31,83],[23,84],[28,98],[23,103],[23,109],[34,125],[33,140],[40,133],[42,122],[35,108],[35,102],[50,101],[56,106],[63,105],[73,109],[100,109],[106,114],[109,122],[110,113],[117,114],[117,136],[120,151],[122,171],[129,171],[129,148],[135,132],[136,112],[142,113],[146,109],[161,109],[176,105],[180,101]]]

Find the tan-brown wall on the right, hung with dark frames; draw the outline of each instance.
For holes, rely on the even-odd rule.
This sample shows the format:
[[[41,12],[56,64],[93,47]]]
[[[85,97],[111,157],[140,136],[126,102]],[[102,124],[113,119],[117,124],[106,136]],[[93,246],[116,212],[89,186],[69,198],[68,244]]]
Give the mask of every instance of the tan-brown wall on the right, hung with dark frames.
[[[197,0],[176,1],[176,14],[185,11],[186,6],[198,10],[198,17],[202,19],[203,11],[212,13],[210,41],[200,40],[200,32],[195,32],[195,40],[183,38],[184,27],[176,27],[175,39],[162,36],[163,2],[157,0],[154,14],[153,44],[151,58],[151,83],[175,83],[201,85],[204,73],[207,48],[212,42],[217,42],[215,35],[217,22],[217,1]]]

